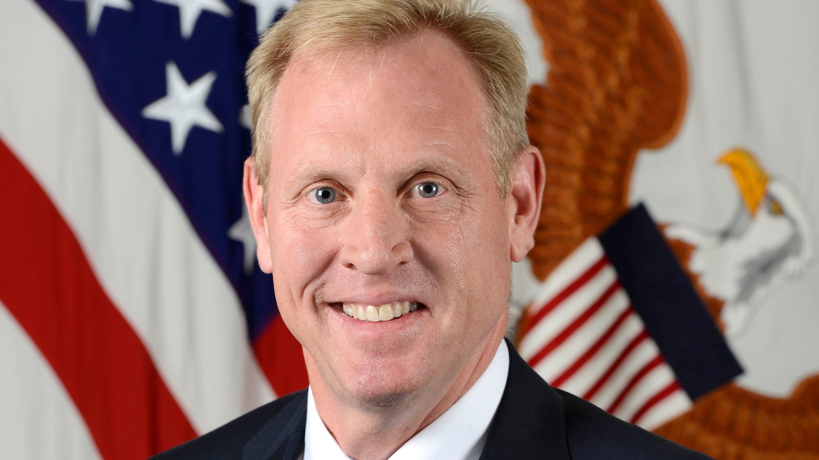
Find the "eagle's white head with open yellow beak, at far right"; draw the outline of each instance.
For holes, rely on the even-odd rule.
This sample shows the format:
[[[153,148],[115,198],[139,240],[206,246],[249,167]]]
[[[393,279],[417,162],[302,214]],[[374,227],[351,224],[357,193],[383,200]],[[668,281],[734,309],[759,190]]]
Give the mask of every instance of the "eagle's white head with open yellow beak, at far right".
[[[666,235],[695,246],[689,268],[708,295],[724,301],[726,333],[737,336],[762,298],[812,263],[815,234],[794,187],[771,178],[748,151],[729,151],[719,162],[731,168],[742,198],[731,223],[718,232],[670,225]]]

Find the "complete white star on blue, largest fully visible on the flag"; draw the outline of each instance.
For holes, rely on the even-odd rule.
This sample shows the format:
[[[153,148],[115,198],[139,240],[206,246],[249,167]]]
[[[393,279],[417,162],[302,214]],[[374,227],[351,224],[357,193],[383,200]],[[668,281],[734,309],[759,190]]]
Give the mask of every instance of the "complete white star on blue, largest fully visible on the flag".
[[[188,133],[191,132],[194,125],[210,129],[215,133],[222,132],[222,124],[205,106],[210,87],[215,79],[216,73],[210,71],[188,85],[174,62],[168,62],[165,65],[168,95],[145,107],[142,115],[152,120],[170,123],[170,138],[174,154],[182,154],[185,142],[188,140]]]

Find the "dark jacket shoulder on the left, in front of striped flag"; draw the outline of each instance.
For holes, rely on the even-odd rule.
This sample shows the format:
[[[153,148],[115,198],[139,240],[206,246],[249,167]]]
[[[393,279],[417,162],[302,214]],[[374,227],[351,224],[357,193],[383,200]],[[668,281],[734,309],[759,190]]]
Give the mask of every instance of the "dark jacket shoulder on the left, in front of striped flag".
[[[269,424],[277,415],[283,414],[285,420],[296,417],[301,408],[306,409],[306,390],[275,399],[273,402],[256,408],[249,413],[201,435],[174,449],[167,450],[153,460],[181,460],[184,458],[241,458],[242,449],[251,439]]]

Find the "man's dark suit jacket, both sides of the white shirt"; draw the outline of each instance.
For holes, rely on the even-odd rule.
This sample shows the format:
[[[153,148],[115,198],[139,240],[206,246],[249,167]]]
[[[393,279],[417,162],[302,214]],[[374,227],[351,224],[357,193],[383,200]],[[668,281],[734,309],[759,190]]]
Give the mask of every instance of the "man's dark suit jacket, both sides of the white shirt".
[[[509,378],[481,458],[708,458],[547,385],[509,345]],[[307,392],[276,399],[156,459],[268,460],[304,450]]]

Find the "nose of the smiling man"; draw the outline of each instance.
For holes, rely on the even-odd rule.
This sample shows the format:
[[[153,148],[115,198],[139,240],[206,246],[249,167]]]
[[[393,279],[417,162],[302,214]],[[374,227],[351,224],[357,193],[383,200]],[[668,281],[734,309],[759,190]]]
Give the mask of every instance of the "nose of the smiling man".
[[[382,197],[355,206],[345,237],[341,263],[362,273],[386,274],[414,258],[399,210]]]

